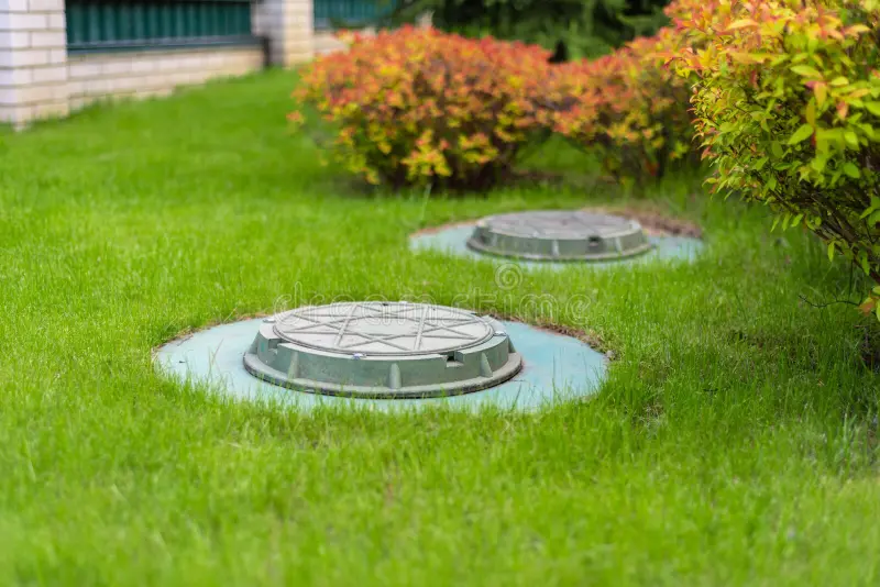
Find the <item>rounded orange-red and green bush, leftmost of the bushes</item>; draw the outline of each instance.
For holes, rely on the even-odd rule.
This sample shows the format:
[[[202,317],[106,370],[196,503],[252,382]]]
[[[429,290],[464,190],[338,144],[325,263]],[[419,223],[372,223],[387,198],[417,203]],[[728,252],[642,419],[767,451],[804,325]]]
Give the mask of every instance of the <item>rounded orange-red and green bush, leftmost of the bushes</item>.
[[[504,179],[546,124],[548,57],[406,26],[315,60],[296,97],[338,125],[337,157],[367,181],[481,189]]]

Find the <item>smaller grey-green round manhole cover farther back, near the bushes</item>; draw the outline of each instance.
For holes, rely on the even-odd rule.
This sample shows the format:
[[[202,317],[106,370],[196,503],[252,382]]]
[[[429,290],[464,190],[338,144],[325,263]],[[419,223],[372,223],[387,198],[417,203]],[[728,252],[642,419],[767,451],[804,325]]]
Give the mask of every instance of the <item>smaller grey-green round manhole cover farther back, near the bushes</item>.
[[[468,246],[532,261],[607,261],[651,250],[635,220],[590,212],[515,212],[476,223]]]

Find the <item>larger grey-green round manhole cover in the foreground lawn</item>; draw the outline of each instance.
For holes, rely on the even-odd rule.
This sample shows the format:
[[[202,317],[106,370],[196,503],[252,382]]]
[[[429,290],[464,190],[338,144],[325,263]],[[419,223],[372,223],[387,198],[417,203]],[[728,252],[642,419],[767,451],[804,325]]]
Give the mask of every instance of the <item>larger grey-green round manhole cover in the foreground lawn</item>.
[[[501,385],[522,367],[496,320],[408,302],[310,306],[267,318],[244,368],[331,396],[429,398]]]

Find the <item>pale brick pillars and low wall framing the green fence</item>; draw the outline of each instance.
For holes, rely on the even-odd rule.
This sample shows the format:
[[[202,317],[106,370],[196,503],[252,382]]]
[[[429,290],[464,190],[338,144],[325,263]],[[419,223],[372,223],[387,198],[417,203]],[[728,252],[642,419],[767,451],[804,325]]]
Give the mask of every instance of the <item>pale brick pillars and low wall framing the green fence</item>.
[[[339,48],[316,37],[312,0],[253,4],[254,34],[270,38],[270,60],[292,66]],[[262,47],[67,54],[65,0],[0,0],[0,122],[33,118],[117,96],[156,96],[175,87],[237,76],[264,65]]]

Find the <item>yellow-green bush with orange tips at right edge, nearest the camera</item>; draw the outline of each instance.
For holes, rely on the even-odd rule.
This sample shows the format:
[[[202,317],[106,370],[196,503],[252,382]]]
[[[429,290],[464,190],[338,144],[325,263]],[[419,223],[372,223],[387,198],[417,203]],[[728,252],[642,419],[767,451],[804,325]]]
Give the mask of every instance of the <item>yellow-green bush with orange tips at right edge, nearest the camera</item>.
[[[714,189],[805,225],[880,284],[880,9],[876,0],[689,1],[672,57]],[[866,310],[877,310],[877,297]]]

